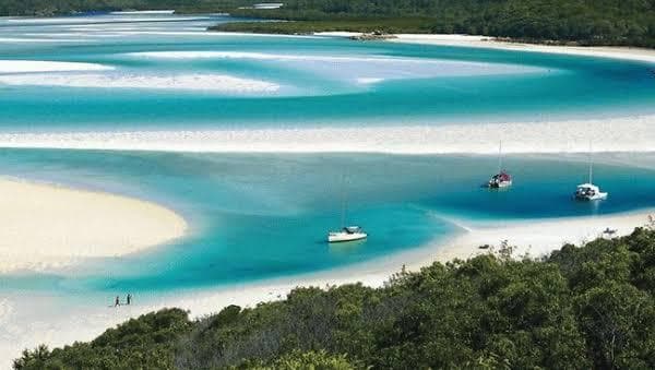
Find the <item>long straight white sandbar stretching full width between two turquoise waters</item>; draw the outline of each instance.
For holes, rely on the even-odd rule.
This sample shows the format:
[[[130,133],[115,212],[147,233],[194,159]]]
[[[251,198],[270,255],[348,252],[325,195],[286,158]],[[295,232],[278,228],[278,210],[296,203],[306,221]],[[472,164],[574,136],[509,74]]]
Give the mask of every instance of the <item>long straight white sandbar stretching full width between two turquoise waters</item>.
[[[655,116],[362,128],[0,133],[1,147],[207,153],[496,154],[654,152]]]

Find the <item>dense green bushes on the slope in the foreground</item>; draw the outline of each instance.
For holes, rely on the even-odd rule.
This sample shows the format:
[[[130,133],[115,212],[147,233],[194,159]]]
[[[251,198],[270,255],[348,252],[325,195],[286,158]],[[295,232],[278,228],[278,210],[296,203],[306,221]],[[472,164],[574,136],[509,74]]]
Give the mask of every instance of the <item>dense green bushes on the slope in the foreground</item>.
[[[384,287],[297,288],[254,309],[189,321],[163,310],[91,343],[39,347],[15,369],[653,369],[655,231],[498,253]]]

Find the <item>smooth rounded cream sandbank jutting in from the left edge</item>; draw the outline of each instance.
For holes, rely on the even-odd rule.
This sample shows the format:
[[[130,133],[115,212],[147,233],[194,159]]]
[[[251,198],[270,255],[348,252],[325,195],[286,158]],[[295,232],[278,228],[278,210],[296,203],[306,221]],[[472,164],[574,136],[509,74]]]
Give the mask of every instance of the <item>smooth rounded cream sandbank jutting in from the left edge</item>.
[[[0,272],[49,271],[133,253],[184,235],[163,206],[108,193],[0,179]]]

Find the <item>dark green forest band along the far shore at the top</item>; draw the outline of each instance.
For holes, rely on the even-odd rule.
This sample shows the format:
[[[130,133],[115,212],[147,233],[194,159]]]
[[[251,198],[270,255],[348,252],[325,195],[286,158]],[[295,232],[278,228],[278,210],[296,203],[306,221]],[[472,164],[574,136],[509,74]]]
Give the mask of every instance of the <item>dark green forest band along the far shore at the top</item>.
[[[478,34],[526,41],[655,47],[654,0],[0,0],[0,15],[175,9],[291,21],[229,23],[217,31],[305,34],[320,31]],[[264,1],[265,2],[265,1]]]

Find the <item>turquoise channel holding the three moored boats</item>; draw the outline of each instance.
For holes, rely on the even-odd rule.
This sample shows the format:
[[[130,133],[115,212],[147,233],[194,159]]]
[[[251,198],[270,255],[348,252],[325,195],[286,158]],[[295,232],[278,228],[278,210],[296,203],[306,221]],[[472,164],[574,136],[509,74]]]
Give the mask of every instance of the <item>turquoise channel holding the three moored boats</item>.
[[[572,160],[573,159],[573,160]],[[87,151],[0,151],[5,174],[160,202],[191,223],[188,237],[56,275],[0,277],[9,290],[138,291],[219,286],[362,262],[417,248],[471,223],[608,214],[655,205],[655,171],[596,165],[610,192],[596,206],[574,202],[586,158],[509,157],[510,191],[480,188],[496,168],[481,156],[210,155]],[[370,232],[331,247],[343,178],[348,220]],[[536,195],[538,194],[538,196]]]

